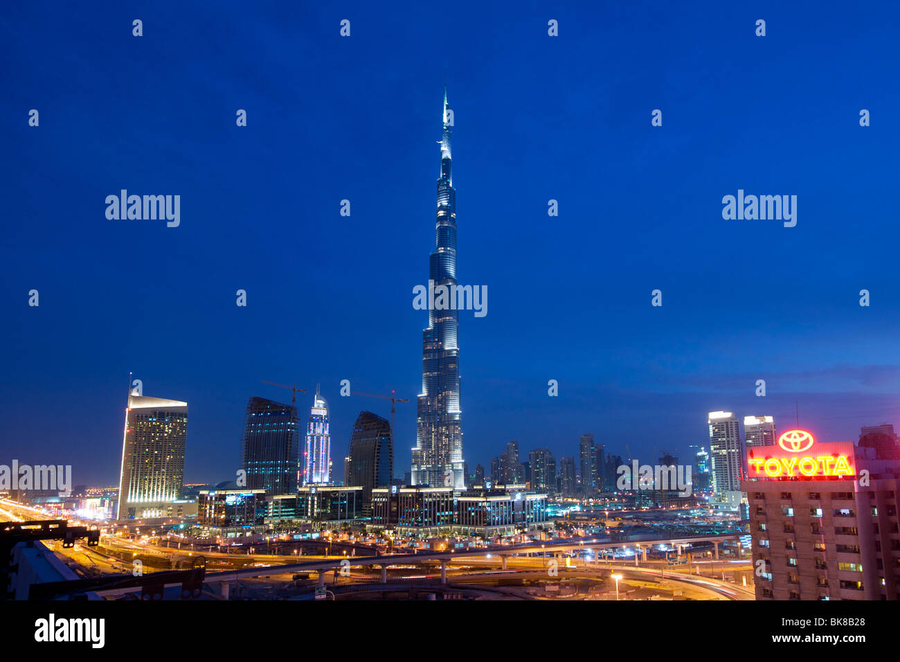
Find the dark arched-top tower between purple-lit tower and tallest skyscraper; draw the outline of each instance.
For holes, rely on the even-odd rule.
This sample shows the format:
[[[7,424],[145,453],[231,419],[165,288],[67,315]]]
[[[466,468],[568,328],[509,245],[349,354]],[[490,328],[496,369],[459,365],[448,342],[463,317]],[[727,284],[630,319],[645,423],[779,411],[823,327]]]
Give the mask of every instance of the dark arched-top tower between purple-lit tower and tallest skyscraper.
[[[350,437],[348,486],[361,486],[362,506],[371,514],[372,490],[389,487],[393,476],[391,423],[378,414],[360,412]]]

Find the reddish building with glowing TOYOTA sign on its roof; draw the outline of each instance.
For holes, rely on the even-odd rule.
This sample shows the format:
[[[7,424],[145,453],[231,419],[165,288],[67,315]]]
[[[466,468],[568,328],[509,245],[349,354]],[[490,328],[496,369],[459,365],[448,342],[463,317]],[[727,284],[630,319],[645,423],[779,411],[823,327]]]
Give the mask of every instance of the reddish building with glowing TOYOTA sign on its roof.
[[[748,449],[747,464],[753,562],[764,563],[757,600],[897,599],[896,459],[788,431]]]

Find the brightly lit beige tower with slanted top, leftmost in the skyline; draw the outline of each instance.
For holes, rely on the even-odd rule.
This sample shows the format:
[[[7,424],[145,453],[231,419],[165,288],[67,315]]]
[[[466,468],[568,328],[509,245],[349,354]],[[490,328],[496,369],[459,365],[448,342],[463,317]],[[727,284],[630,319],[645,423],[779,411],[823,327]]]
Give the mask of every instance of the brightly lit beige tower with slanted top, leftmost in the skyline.
[[[168,516],[184,487],[187,403],[129,394],[117,519]]]

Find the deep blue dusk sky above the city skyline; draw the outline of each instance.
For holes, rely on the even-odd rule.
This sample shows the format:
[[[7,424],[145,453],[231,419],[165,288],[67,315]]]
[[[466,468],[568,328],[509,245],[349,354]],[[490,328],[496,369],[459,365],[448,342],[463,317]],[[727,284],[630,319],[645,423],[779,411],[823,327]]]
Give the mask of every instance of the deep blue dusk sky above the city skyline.
[[[707,412],[787,430],[795,400],[822,440],[900,423],[900,10],[692,5],[4,5],[0,463],[116,484],[133,371],[189,404],[185,481],[234,477],[248,397],[290,398],[260,379],[321,383],[338,478],[390,411],[340,380],[409,397],[402,476],[445,67],[458,275],[489,292],[460,314],[470,470],[584,432],[686,459]],[[181,225],[107,220],[122,188],[181,195]],[[797,195],[797,226],[725,221],[739,188]]]

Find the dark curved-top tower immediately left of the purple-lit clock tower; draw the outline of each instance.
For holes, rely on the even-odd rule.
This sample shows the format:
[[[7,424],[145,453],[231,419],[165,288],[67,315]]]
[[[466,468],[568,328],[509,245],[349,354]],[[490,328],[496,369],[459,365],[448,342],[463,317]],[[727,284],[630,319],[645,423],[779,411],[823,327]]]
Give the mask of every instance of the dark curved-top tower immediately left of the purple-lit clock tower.
[[[241,465],[247,472],[247,489],[263,489],[270,496],[296,491],[299,450],[297,408],[251,397]]]

